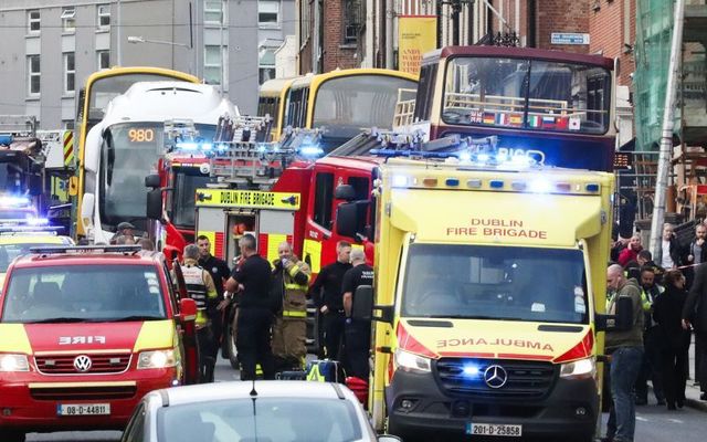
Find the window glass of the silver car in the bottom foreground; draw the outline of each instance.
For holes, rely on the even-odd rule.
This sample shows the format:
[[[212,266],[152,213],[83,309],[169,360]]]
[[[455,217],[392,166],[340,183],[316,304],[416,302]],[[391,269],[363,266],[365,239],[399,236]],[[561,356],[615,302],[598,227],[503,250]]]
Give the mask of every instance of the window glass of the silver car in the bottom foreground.
[[[157,412],[160,441],[344,442],[362,438],[354,404],[340,399],[250,398],[170,404]]]

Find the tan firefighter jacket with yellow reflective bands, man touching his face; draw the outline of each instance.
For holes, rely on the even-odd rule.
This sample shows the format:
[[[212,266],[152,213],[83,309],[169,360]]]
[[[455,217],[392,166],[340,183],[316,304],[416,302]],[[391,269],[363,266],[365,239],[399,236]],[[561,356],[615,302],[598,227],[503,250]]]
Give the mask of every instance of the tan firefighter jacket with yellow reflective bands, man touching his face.
[[[273,291],[274,296],[282,299],[282,312],[284,319],[305,319],[307,316],[307,288],[312,271],[309,266],[292,257],[293,265],[287,270],[281,260],[275,260],[273,264]]]

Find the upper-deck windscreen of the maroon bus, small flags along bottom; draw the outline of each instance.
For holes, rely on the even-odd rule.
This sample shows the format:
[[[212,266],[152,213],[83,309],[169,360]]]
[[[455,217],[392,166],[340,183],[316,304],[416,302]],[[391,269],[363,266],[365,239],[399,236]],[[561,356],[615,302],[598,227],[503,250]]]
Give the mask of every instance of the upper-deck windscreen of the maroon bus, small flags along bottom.
[[[445,74],[442,119],[450,125],[603,135],[611,73],[579,63],[461,56]]]

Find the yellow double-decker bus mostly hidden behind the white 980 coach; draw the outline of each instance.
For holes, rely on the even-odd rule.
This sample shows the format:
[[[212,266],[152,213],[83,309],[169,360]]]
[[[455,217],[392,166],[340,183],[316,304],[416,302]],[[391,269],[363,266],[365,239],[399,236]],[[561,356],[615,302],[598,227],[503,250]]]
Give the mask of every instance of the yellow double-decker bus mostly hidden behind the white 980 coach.
[[[76,179],[70,187],[71,194],[75,197],[75,208],[81,208],[85,192],[85,145],[88,130],[105,116],[105,108],[114,97],[124,94],[137,82],[155,81],[181,81],[199,84],[201,81],[190,74],[152,66],[113,67],[94,72],[86,80],[86,84],[78,94],[76,112],[76,139],[78,140],[78,156]],[[76,223],[74,236],[84,236],[85,232],[81,222]]]

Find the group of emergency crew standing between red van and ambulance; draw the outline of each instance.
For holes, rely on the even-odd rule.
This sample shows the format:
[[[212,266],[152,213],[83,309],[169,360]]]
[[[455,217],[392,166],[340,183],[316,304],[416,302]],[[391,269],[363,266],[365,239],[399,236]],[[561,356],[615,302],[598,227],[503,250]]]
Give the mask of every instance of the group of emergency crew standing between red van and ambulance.
[[[303,370],[306,362],[307,297],[320,315],[324,356],[342,361],[350,376],[368,379],[370,323],[351,318],[352,297],[359,285],[372,285],[373,270],[362,250],[337,244],[337,261],[323,267],[310,285],[312,271],[294,253],[292,244],[278,245],[270,263],[256,248],[255,236],[239,239],[234,267],[214,257],[207,236],[183,251],[181,267],[186,288],[196,301],[200,379],[213,381],[214,365],[224,335],[224,312],[235,308],[234,337],[241,379]]]

